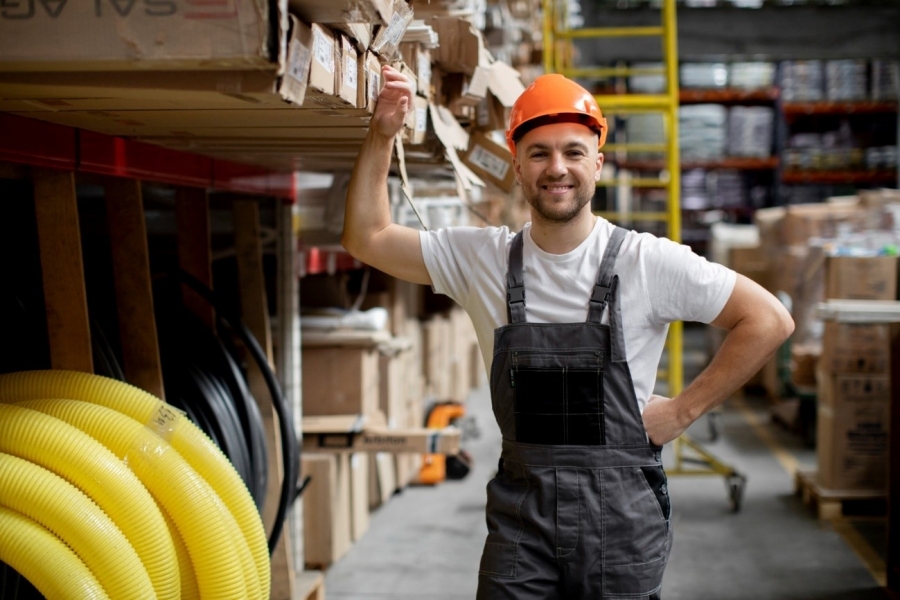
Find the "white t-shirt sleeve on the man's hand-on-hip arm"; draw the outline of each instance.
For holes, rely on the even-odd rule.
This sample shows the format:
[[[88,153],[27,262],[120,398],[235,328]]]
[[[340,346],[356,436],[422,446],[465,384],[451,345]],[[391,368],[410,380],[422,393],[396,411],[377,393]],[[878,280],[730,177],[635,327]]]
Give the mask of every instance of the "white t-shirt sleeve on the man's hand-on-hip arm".
[[[695,254],[688,246],[660,238],[648,252],[647,286],[654,319],[660,323],[710,323],[722,309],[737,274]]]

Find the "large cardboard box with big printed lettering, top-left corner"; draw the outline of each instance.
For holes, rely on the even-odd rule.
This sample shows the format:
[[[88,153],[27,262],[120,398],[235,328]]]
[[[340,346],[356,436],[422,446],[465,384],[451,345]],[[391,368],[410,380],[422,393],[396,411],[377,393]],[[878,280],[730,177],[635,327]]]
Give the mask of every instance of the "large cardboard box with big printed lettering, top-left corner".
[[[22,2],[0,12],[0,71],[271,66],[268,2]]]

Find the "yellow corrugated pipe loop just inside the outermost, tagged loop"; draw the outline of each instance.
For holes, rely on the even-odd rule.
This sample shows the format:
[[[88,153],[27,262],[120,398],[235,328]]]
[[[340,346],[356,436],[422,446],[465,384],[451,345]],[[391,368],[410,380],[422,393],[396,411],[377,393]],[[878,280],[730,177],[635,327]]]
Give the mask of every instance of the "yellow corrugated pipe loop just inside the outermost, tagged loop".
[[[156,433],[111,408],[79,400],[29,400],[19,406],[61,419],[125,461],[175,522],[203,598],[260,598],[253,558],[215,491]]]

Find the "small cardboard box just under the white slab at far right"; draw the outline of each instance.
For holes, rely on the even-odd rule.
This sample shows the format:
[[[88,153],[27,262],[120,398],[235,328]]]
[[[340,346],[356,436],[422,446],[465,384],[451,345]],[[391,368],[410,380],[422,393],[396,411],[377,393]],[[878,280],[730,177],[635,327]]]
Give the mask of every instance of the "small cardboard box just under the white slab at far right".
[[[890,372],[891,329],[886,323],[825,322],[822,369],[830,373]]]

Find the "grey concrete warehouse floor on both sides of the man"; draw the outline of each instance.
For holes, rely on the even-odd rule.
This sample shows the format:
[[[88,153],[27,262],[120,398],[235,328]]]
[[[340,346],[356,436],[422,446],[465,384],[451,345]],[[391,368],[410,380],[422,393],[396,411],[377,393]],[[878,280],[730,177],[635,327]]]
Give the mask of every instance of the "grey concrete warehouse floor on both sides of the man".
[[[471,395],[468,412],[481,430],[477,439],[464,442],[475,459],[472,472],[462,481],[408,487],[378,509],[370,530],[328,570],[329,600],[475,597],[487,531],[485,485],[496,471],[500,435],[486,387]],[[731,399],[718,419],[718,438],[703,445],[746,475],[741,509],[731,512],[721,476],[670,477],[675,543],[663,598],[886,598],[860,558],[862,536],[842,535],[839,531],[853,529],[847,523],[818,521],[793,493],[789,471],[814,468],[814,450],[772,424],[764,399]],[[706,417],[691,433],[708,440]],[[666,464],[672,465],[672,449],[667,453]],[[877,538],[878,522],[866,523]],[[867,548],[861,550],[864,555]]]

